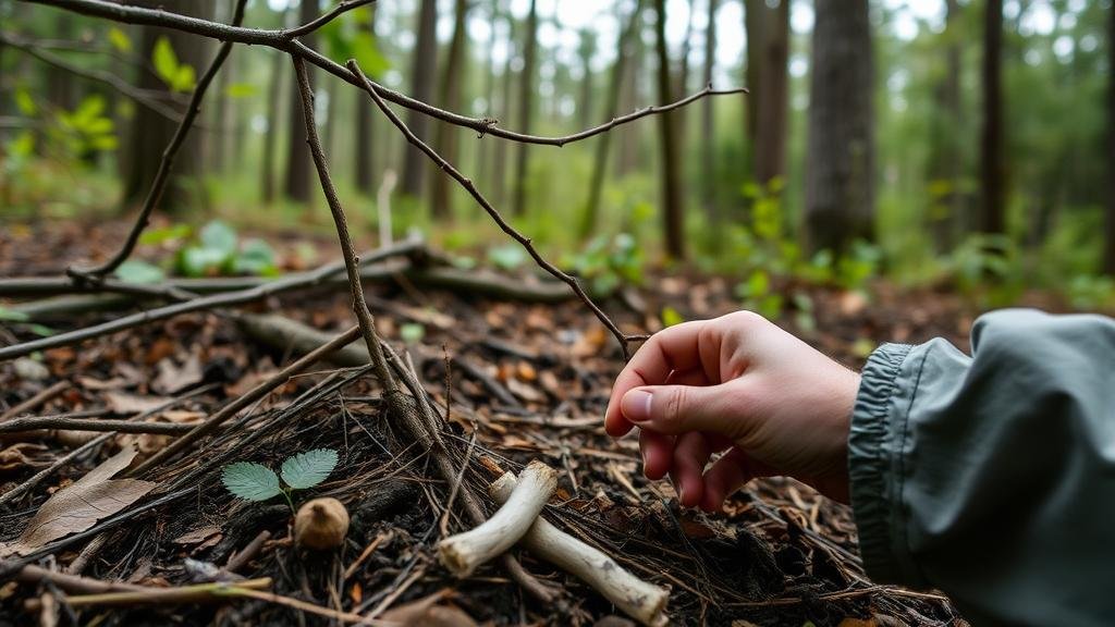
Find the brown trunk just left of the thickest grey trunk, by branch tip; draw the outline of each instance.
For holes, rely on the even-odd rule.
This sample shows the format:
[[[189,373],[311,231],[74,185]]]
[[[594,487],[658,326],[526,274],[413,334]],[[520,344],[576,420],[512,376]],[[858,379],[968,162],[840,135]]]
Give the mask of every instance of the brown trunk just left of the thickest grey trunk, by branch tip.
[[[786,168],[786,119],[789,115],[789,0],[764,7],[763,59],[758,71],[755,179],[760,185],[782,177]],[[870,94],[869,94],[870,97]]]

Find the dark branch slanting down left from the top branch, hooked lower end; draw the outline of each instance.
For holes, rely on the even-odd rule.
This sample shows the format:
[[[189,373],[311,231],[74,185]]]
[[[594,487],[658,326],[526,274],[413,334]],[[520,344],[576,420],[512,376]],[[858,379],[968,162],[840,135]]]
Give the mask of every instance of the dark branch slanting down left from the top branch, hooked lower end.
[[[232,25],[240,26],[244,21],[244,6],[248,4],[248,0],[237,0],[236,9],[233,12]],[[193,95],[190,96],[190,104],[186,107],[186,114],[182,117],[182,122],[178,123],[178,128],[174,132],[174,137],[171,138],[171,143],[167,144],[166,149],[163,151],[163,160],[158,164],[158,171],[155,173],[155,180],[152,181],[151,190],[147,191],[147,197],[143,201],[143,208],[139,210],[139,215],[136,216],[135,223],[132,225],[132,231],[128,233],[128,238],[124,241],[124,245],[120,250],[116,251],[108,261],[96,266],[94,268],[69,268],[67,273],[74,277],[75,280],[84,280],[89,278],[101,278],[105,274],[109,274],[120,267],[120,263],[132,255],[132,251],[135,250],[136,243],[139,241],[139,235],[143,233],[144,229],[151,220],[151,213],[155,210],[155,206],[163,199],[163,191],[166,190],[166,182],[171,179],[171,168],[174,166],[174,157],[177,156],[178,149],[182,148],[182,144],[185,143],[186,136],[190,135],[190,128],[194,125],[194,119],[197,114],[202,110],[202,99],[205,97],[205,90],[209,89],[210,84],[213,81],[213,77],[216,73],[221,70],[221,66],[224,65],[224,60],[229,58],[229,52],[232,51],[232,41],[225,41],[217,49],[216,56],[213,57],[213,61],[210,62],[209,69],[202,75],[197,85],[194,87]]]

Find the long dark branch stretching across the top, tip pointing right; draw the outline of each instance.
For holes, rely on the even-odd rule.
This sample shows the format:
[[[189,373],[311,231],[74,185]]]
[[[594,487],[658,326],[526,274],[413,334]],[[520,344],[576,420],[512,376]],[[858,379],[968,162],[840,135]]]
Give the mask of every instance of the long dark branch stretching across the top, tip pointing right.
[[[307,62],[318,66],[319,68],[340,78],[341,80],[351,83],[357,87],[365,88],[361,81],[357,77],[355,77],[350,71],[346,70],[341,65],[329,59],[328,57],[310,48],[309,46],[302,44],[297,37],[291,37],[290,36],[291,31],[231,27],[220,22],[203,20],[200,18],[193,18],[180,13],[172,13],[168,11],[164,11],[162,9],[129,7],[124,4],[117,4],[115,2],[108,2],[106,0],[22,0],[22,1],[35,4],[47,4],[51,7],[58,7],[61,9],[75,11],[87,16],[108,18],[110,20],[115,20],[118,22],[172,28],[175,30],[192,32],[194,35],[201,35],[202,37],[209,37],[211,39],[220,39],[222,41],[235,41],[239,44],[270,46],[271,48],[275,48],[284,52],[289,52],[291,55],[301,57],[306,59]],[[323,25],[318,25],[318,28],[320,28],[321,26]],[[295,28],[293,30],[297,31],[299,29]],[[710,87],[707,87],[701,91],[694,94],[692,96],[678,100],[677,103],[639,109],[637,112],[620,116],[611,122],[601,124],[600,126],[590,128],[588,131],[574,133],[573,135],[563,135],[560,137],[543,137],[539,135],[530,135],[525,133],[516,133],[514,131],[506,131],[497,126],[497,120],[491,118],[468,117],[457,113],[439,109],[421,100],[411,98],[410,96],[407,96],[405,94],[400,94],[392,89],[388,89],[387,87],[379,85],[378,83],[370,80],[367,80],[367,83],[370,84],[371,88],[385,100],[428,115],[430,117],[435,117],[448,124],[455,124],[457,126],[463,126],[465,128],[472,128],[479,135],[492,135],[495,137],[502,137],[504,139],[524,142],[527,144],[541,144],[547,146],[564,146],[565,144],[579,142],[581,139],[586,139],[589,137],[599,135],[601,133],[605,133],[617,126],[627,124],[629,122],[633,122],[641,117],[667,112],[677,107],[688,105],[694,100],[700,99],[705,96],[748,93],[746,88],[714,90]]]

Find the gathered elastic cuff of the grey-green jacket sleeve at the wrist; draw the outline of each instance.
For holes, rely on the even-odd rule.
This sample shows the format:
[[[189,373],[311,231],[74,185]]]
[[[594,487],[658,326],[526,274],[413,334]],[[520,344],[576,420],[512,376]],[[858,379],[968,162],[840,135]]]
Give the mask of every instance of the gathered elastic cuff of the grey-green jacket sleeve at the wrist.
[[[893,462],[901,454],[901,434],[892,425],[891,399],[902,363],[913,347],[884,344],[867,358],[849,434],[849,479],[852,510],[860,532],[860,554],[874,581],[899,582],[901,568],[892,554],[895,483]]]

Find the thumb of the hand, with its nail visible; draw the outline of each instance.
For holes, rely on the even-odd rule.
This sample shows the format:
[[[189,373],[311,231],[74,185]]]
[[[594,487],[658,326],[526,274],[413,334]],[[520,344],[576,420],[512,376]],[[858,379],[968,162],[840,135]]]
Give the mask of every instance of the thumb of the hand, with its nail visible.
[[[640,428],[677,435],[690,431],[735,437],[741,426],[735,382],[709,386],[649,385],[628,390],[623,417]]]

